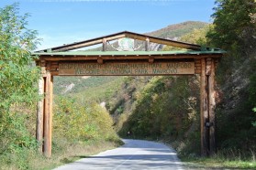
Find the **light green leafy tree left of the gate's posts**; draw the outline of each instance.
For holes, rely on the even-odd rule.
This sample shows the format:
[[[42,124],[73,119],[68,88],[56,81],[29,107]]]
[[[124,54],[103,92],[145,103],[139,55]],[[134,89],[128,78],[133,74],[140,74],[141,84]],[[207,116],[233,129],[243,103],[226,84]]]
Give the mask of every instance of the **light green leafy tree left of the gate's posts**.
[[[38,97],[39,69],[29,51],[39,39],[36,31],[28,29],[27,18],[28,14],[19,15],[17,4],[0,8],[0,157],[33,141],[21,105]]]

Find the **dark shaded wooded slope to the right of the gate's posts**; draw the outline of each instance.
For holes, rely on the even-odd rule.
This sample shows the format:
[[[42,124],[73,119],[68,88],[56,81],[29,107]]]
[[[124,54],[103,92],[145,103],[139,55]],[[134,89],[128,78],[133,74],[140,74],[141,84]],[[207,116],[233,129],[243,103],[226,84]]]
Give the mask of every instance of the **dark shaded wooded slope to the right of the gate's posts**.
[[[217,105],[217,147],[248,153],[255,145],[255,44],[254,0],[217,0],[214,27],[206,37],[211,46],[228,50],[217,68],[221,102]],[[244,83],[246,82],[246,83]]]

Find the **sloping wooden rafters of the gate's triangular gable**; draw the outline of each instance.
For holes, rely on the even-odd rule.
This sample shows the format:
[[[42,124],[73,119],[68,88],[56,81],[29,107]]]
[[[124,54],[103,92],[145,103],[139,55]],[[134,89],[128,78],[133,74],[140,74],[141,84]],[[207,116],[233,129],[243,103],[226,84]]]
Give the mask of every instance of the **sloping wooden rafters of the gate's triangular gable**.
[[[62,51],[69,51],[69,50],[77,49],[77,48],[85,48],[85,47],[89,47],[89,46],[94,46],[97,44],[103,44],[103,48],[105,48],[107,41],[117,40],[117,39],[123,38],[123,37],[129,37],[129,38],[133,38],[133,39],[137,39],[137,40],[142,40],[142,41],[145,41],[146,43],[148,42],[148,44],[150,42],[152,42],[152,43],[162,44],[162,45],[166,45],[166,46],[173,46],[176,48],[185,48],[185,49],[192,49],[192,50],[201,50],[202,49],[201,46],[195,45],[195,44],[189,44],[189,43],[174,41],[174,40],[170,40],[170,39],[164,39],[164,38],[160,38],[160,37],[151,37],[151,36],[133,33],[133,32],[129,32],[129,31],[123,31],[123,32],[111,34],[111,35],[108,35],[105,37],[96,37],[93,39],[75,42],[72,44],[67,44],[67,45],[63,45],[63,46],[59,46],[59,47],[55,47],[55,48],[39,50],[37,52],[47,52],[47,51],[62,52]]]

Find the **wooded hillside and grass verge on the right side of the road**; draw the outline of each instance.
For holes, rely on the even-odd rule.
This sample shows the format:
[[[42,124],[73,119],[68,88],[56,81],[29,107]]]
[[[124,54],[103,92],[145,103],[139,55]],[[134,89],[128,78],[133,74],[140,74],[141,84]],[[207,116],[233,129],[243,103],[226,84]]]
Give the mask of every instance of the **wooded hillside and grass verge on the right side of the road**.
[[[117,118],[117,132],[172,143],[188,166],[255,168],[255,10],[253,0],[217,1],[212,25],[179,37],[227,50],[217,68],[217,154],[200,157],[198,77],[153,77],[145,83],[129,78],[114,96],[119,99],[114,109],[108,108]]]

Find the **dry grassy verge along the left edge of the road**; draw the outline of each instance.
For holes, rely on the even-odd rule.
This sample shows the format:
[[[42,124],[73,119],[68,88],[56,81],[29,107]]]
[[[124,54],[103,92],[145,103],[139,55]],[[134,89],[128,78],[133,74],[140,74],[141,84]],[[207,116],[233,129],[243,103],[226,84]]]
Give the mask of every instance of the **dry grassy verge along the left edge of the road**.
[[[116,148],[119,144],[120,143],[113,143],[107,141],[69,143],[68,141],[58,140],[58,144],[53,142],[53,145],[55,147],[53,147],[52,156],[50,158],[46,158],[44,155],[39,154],[39,152],[36,152],[35,150],[28,150],[26,151],[26,164],[18,163],[19,159],[25,159],[24,154],[12,154],[10,155],[10,157],[12,158],[12,160],[17,160],[17,162],[12,163],[12,160],[6,161],[4,163],[0,162],[0,169],[52,169],[60,165],[72,163],[75,160],[87,157],[92,154],[97,154],[109,149]]]

